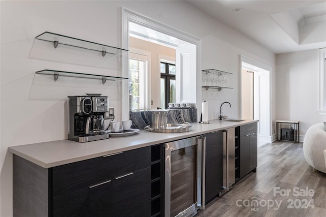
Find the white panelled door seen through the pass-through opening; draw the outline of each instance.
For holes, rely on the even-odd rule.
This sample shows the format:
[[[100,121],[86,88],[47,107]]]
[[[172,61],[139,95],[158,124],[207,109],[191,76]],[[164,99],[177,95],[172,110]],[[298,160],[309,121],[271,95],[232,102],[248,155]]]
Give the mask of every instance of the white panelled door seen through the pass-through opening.
[[[176,48],[176,102],[196,102],[196,45]]]

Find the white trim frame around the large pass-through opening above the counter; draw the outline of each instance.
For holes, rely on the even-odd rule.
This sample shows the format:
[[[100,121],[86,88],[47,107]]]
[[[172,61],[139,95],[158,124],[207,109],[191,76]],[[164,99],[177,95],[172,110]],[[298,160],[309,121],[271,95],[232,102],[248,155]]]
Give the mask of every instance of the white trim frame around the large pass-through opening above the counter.
[[[201,81],[201,73],[198,73],[201,71],[201,39],[189,35],[187,33],[184,33],[176,28],[173,28],[169,25],[166,25],[164,23],[158,22],[156,20],[153,20],[147,16],[141,15],[137,12],[131,11],[129,9],[126,9],[124,7],[121,7],[121,45],[122,47],[129,48],[129,21],[137,23],[139,25],[143,25],[147,28],[151,28],[156,30],[157,32],[173,36],[175,38],[178,38],[180,40],[186,41],[188,43],[194,44],[196,46],[196,81]],[[123,64],[125,66],[127,64]],[[122,68],[122,70],[127,70]],[[201,82],[196,82],[196,104],[201,102]],[[128,98],[128,91],[126,91],[128,88],[122,88],[122,118],[123,119],[129,119],[129,98]],[[201,111],[197,112],[197,115]]]

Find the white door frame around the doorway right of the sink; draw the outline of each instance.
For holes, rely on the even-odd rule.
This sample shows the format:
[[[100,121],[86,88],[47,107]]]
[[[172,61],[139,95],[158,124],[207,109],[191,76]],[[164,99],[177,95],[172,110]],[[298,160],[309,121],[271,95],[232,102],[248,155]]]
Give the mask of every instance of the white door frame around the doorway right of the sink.
[[[269,132],[268,132],[268,142],[273,142],[273,125],[272,125],[272,106],[271,106],[271,102],[272,102],[272,93],[271,93],[271,74],[272,74],[272,68],[270,66],[264,65],[262,63],[260,63],[257,60],[254,60],[252,58],[249,58],[247,56],[244,55],[239,55],[239,110],[238,110],[238,115],[240,118],[242,118],[242,61],[246,62],[250,65],[256,66],[258,68],[264,69],[266,71],[269,71],[269,102],[267,104],[267,107],[269,108],[269,114],[268,114],[268,120],[269,120]]]

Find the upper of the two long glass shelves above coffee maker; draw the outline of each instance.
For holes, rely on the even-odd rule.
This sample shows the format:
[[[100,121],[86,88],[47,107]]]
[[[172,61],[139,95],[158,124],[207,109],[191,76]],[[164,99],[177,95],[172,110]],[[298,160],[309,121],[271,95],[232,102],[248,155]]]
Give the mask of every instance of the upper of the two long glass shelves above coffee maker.
[[[47,41],[53,43],[53,46],[57,48],[58,45],[67,45],[72,47],[83,48],[87,50],[98,51],[102,53],[102,56],[105,56],[106,53],[109,54],[118,54],[126,52],[128,50],[112,47],[109,45],[98,44],[95,42],[86,41],[83,39],[76,39],[69,36],[63,36],[55,33],[44,32],[41,35],[35,37],[35,39]]]

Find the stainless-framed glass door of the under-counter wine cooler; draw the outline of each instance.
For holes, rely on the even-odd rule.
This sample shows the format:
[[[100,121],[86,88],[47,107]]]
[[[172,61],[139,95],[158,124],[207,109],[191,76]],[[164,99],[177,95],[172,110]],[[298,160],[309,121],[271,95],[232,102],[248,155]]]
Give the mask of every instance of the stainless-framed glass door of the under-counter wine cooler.
[[[202,183],[202,145],[198,145],[198,141],[194,137],[165,144],[165,216],[193,216],[197,213]]]

